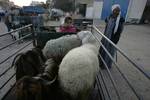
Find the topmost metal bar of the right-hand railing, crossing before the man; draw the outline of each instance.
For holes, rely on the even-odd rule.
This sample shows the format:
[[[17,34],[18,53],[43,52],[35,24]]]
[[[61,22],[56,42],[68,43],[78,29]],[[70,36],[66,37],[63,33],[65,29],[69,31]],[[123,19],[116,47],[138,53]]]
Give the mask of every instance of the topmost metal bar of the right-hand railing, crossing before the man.
[[[138,64],[135,63],[135,61],[134,61],[133,59],[129,58],[129,57],[127,56],[127,54],[126,54],[123,50],[121,50],[121,49],[120,49],[119,47],[117,47],[111,40],[109,40],[105,35],[103,35],[102,32],[97,29],[96,26],[93,26],[93,28],[94,28],[102,37],[104,37],[111,45],[113,45],[132,65],[134,65],[134,67],[136,67],[140,72],[142,72],[142,73],[144,74],[145,77],[147,77],[147,78],[150,80],[149,74],[146,73],[146,72],[142,69],[143,67],[139,66]]]

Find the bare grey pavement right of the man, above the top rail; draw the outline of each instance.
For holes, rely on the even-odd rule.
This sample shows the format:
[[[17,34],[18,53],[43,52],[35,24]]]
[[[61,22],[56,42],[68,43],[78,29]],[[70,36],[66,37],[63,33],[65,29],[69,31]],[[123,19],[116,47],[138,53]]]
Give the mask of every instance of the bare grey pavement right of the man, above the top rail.
[[[118,46],[150,72],[149,25],[126,25]]]

